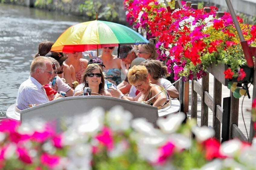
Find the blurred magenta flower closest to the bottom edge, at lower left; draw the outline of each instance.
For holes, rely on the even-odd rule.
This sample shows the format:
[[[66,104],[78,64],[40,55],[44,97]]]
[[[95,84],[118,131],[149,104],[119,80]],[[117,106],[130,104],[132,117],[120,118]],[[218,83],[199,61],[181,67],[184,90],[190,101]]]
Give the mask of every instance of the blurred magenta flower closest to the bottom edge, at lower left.
[[[48,153],[43,153],[40,158],[41,163],[50,169],[53,169],[56,165],[59,164],[59,159],[59,156],[50,155]]]

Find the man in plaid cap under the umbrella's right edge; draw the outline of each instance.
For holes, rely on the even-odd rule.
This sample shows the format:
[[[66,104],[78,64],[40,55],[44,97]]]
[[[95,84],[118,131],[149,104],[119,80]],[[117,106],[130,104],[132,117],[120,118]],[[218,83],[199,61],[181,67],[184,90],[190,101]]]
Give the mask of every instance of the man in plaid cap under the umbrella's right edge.
[[[137,56],[134,51],[134,48],[132,48],[130,45],[123,45],[123,46],[120,46],[120,49],[119,49],[119,58],[125,64],[130,65],[132,63],[132,61],[135,58],[137,58]],[[119,85],[117,85],[117,88],[120,91],[122,91],[123,94],[129,93],[131,85],[128,82],[127,75],[126,75],[125,80],[122,81]]]

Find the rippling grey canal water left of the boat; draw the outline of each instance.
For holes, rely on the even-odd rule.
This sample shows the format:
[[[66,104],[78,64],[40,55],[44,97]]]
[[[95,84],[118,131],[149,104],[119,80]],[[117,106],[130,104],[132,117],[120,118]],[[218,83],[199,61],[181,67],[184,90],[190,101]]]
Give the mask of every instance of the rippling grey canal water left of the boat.
[[[38,44],[55,42],[69,26],[85,21],[82,17],[0,4],[0,116],[15,103]]]

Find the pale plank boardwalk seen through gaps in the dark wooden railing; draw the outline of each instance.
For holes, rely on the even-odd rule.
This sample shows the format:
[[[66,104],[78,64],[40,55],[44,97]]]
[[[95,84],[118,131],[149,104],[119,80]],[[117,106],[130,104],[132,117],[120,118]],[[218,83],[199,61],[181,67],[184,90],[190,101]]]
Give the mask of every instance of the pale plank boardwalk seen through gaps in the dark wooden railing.
[[[212,74],[209,74],[209,94],[213,96],[213,80],[214,77]],[[200,84],[202,83],[201,80],[198,81]],[[253,93],[253,85],[249,88],[249,94],[251,98],[249,99],[248,96],[243,96],[239,98],[239,117],[238,117],[238,127],[243,132],[245,137],[248,139],[248,136],[250,135],[250,123],[251,123],[251,104],[252,104],[252,93]],[[230,90],[222,85],[222,104],[223,104],[223,97],[229,97],[230,96]],[[197,95],[197,124],[200,126],[201,124],[201,97]],[[190,111],[191,111],[191,82],[189,85],[189,113],[188,116],[190,118]],[[209,116],[208,116],[208,126],[212,127],[213,125],[213,112],[208,109]],[[243,118],[244,117],[244,118]],[[245,124],[244,124],[244,121]],[[246,128],[245,128],[246,127]],[[247,129],[247,132],[246,132]],[[248,135],[247,135],[248,133]]]

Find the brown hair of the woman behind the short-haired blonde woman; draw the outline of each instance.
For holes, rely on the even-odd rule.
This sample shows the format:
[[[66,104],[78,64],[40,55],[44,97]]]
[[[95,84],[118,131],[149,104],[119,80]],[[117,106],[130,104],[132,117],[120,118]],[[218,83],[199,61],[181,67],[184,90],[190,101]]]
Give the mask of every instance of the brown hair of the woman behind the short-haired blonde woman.
[[[154,80],[161,79],[163,76],[168,76],[167,67],[163,65],[163,62],[159,60],[146,60],[140,65],[145,66]]]

